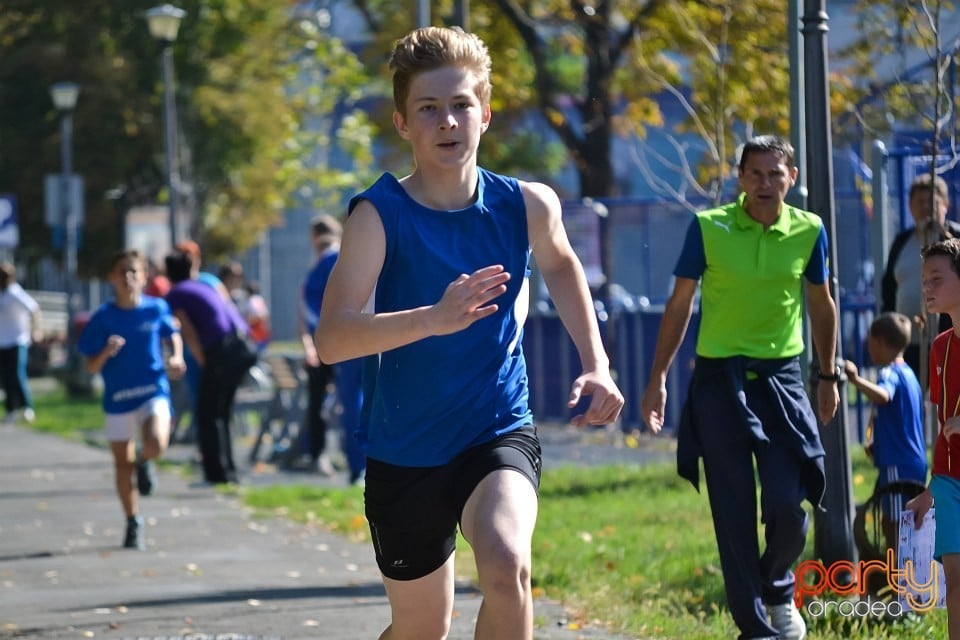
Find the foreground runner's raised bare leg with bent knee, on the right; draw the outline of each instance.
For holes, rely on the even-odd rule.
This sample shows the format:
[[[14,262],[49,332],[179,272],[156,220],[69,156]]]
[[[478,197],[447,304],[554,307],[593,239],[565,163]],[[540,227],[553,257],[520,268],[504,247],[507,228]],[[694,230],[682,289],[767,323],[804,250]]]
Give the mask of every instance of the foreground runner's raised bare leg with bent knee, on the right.
[[[520,473],[484,478],[463,509],[463,536],[473,548],[483,601],[477,640],[532,640],[531,544],[537,493]]]

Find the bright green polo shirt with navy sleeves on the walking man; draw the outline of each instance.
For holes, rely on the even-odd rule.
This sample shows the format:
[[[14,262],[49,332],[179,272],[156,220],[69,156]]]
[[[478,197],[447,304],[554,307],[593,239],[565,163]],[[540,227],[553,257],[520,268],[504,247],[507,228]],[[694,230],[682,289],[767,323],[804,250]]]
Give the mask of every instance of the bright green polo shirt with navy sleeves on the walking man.
[[[803,276],[816,284],[827,277],[823,223],[816,214],[784,205],[764,229],[744,210],[744,197],[696,215],[674,270],[678,277],[701,278],[697,353],[799,355]]]

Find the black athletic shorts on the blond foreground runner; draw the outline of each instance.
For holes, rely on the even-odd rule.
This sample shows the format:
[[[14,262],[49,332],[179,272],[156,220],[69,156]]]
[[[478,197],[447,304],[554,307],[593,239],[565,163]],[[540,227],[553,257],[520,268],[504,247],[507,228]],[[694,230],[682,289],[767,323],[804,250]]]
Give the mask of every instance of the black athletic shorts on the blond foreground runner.
[[[514,469],[540,487],[540,440],[532,425],[461,453],[439,467],[367,460],[364,503],[383,575],[415,580],[453,553],[463,506],[491,471]]]

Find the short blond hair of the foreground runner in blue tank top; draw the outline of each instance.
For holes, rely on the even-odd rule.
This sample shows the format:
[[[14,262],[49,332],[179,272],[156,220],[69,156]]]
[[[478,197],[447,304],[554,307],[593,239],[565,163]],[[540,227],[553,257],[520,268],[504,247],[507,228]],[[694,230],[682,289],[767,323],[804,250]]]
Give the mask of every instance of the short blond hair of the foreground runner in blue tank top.
[[[425,71],[457,66],[472,72],[481,104],[489,104],[490,53],[479,37],[460,27],[423,27],[397,41],[390,56],[393,72],[393,103],[400,115],[407,115],[407,97],[413,78]]]

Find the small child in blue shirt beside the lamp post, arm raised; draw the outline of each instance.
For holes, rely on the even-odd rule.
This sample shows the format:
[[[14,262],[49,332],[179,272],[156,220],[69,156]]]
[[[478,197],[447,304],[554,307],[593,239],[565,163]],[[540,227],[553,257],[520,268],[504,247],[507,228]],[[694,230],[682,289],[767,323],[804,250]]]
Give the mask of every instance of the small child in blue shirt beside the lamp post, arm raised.
[[[926,443],[923,435],[923,392],[913,369],[904,360],[910,344],[910,318],[886,312],[870,324],[867,351],[879,367],[877,381],[860,377],[857,365],[847,360],[844,370],[850,383],[875,405],[873,441],[867,455],[877,468],[874,493],[904,481],[927,481]],[[881,526],[887,548],[897,548],[900,512],[907,496],[894,492],[881,502]]]

